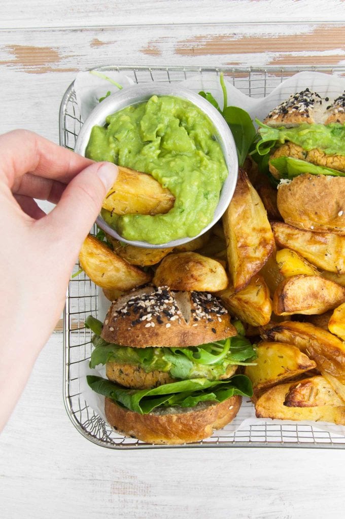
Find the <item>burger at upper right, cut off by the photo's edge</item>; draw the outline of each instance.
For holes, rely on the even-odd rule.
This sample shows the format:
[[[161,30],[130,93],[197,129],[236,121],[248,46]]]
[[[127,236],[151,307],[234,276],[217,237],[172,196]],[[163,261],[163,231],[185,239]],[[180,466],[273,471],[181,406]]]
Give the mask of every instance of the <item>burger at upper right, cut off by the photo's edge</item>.
[[[275,180],[285,223],[345,234],[345,93],[331,100],[306,88],[257,123],[253,158]]]

